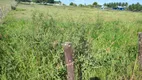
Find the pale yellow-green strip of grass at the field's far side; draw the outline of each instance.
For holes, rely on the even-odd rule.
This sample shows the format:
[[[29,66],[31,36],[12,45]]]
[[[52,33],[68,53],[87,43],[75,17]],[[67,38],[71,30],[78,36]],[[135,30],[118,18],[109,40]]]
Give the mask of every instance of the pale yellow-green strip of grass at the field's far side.
[[[33,10],[41,11],[44,13],[54,14],[54,17],[63,19],[65,16],[71,16],[73,19],[80,19],[86,17],[90,21],[95,21],[98,16],[102,17],[105,21],[121,20],[125,22],[134,22],[141,20],[142,14],[128,11],[103,11],[92,8],[74,8],[74,7],[58,7],[58,6],[44,6],[44,5],[20,5],[20,9],[26,9],[23,14],[28,12],[32,13]],[[18,13],[18,12],[17,12]],[[74,14],[76,13],[76,15]],[[19,15],[21,12],[19,13]],[[22,16],[22,14],[20,15]],[[27,15],[26,15],[27,17]],[[88,20],[87,20],[88,21]]]

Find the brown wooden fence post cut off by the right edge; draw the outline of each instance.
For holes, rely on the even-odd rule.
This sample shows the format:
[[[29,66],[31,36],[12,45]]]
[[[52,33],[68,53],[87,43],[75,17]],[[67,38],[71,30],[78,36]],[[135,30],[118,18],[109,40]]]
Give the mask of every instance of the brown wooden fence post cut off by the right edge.
[[[142,70],[142,32],[138,33],[138,37],[139,37],[138,60],[139,60],[140,70]]]

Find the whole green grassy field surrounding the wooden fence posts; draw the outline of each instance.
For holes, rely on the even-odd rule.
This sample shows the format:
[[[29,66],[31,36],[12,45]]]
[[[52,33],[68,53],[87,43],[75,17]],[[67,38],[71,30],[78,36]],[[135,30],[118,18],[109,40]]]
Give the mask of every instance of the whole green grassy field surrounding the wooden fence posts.
[[[66,80],[61,44],[72,42],[79,80],[141,80],[142,13],[19,4],[0,24],[1,80]]]

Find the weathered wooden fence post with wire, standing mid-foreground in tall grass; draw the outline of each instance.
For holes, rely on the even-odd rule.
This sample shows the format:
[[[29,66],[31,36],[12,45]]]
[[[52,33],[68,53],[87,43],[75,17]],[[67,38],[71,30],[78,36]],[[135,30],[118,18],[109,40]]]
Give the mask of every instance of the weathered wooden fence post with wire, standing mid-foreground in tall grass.
[[[73,61],[73,49],[70,42],[63,44],[65,61],[67,66],[67,80],[74,80],[74,61]]]

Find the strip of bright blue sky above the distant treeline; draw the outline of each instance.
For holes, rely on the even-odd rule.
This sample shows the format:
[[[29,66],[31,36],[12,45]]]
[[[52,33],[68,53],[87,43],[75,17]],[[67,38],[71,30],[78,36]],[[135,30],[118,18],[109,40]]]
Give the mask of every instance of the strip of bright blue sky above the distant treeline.
[[[60,0],[60,1],[65,4],[69,4],[70,2],[74,2],[76,4],[92,4],[93,2],[98,2],[101,5],[108,2],[128,2],[129,4],[139,2],[142,4],[142,0]]]

